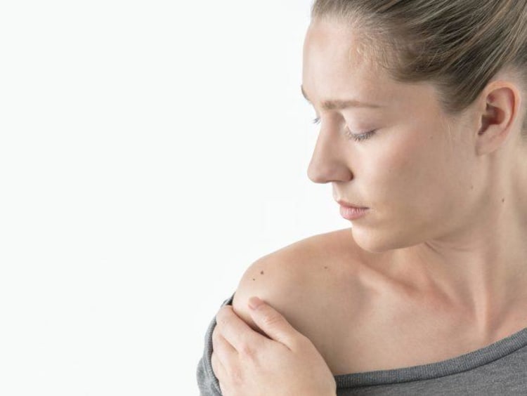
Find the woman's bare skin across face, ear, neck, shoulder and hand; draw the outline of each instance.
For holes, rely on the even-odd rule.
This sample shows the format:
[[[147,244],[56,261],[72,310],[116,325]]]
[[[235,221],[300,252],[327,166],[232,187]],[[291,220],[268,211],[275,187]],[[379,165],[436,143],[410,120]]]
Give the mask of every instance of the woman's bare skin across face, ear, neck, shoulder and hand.
[[[306,34],[302,88],[321,120],[308,177],[332,183],[334,199],[370,210],[353,221],[346,234],[349,243],[342,232],[332,233],[288,246],[249,268],[233,307],[222,308],[222,323],[214,330],[213,368],[225,384],[224,395],[256,395],[259,389],[275,395],[288,394],[285,389],[330,395],[332,375],[447,359],[527,327],[527,145],[520,136],[526,112],[521,79],[502,70],[469,109],[449,116],[432,84],[397,83],[358,48],[353,27],[336,21],[314,20]],[[352,98],[380,107],[322,106],[325,100]],[[363,141],[348,135],[372,130]],[[324,254],[317,261],[319,251]],[[277,264],[299,257],[309,260],[301,270],[297,264]],[[323,260],[334,266],[318,270]],[[256,284],[254,271],[263,269],[269,276]],[[310,293],[317,298],[311,301]],[[277,348],[287,343],[285,336],[261,335],[269,335],[273,326],[255,320],[247,307],[253,295],[268,301],[268,315],[281,318],[276,334],[287,334],[289,343],[303,343],[303,350]],[[291,297],[299,295],[302,304]],[[389,309],[383,310],[385,306]],[[355,338],[317,327],[320,315],[327,326],[338,322],[342,327],[346,314],[363,319],[361,327],[355,320],[344,326]],[[403,323],[407,316],[415,319],[411,326]],[[332,322],[333,317],[338,320]],[[364,329],[370,326],[382,336],[397,330],[390,343],[392,360],[367,344],[372,332]],[[362,331],[365,338],[360,338]],[[400,353],[408,339],[427,345],[431,334],[436,348],[423,348],[420,355]],[[459,339],[453,340],[453,334]],[[332,337],[338,343],[328,340]],[[253,358],[232,347],[240,339],[246,350],[250,345]],[[364,343],[363,349],[356,340]],[[445,348],[438,349],[441,340]],[[343,348],[334,347],[343,342],[355,353],[344,355]],[[266,369],[255,358],[262,356]],[[288,364],[281,366],[283,362]],[[238,373],[236,381],[232,373]],[[305,381],[287,383],[285,378]],[[331,385],[313,393],[317,384]]]

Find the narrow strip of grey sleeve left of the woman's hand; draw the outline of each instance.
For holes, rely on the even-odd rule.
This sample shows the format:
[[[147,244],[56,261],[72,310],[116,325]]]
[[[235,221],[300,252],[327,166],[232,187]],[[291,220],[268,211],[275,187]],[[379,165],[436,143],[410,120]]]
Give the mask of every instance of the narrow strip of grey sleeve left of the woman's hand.
[[[226,301],[223,301],[220,308],[224,305],[232,305],[234,294],[227,298]],[[221,396],[221,390],[219,387],[218,378],[214,375],[212,371],[212,331],[216,326],[216,315],[212,319],[212,322],[209,324],[207,333],[205,334],[205,344],[203,356],[200,359],[200,362],[197,364],[197,386],[200,388],[200,396]]]

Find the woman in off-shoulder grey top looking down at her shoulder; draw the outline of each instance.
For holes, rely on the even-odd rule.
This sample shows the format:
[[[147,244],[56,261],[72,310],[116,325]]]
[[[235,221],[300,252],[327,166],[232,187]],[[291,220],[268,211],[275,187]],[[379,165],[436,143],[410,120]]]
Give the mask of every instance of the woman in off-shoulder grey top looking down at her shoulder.
[[[526,22],[527,0],[315,1],[308,176],[364,209],[249,267],[202,395],[527,394]]]

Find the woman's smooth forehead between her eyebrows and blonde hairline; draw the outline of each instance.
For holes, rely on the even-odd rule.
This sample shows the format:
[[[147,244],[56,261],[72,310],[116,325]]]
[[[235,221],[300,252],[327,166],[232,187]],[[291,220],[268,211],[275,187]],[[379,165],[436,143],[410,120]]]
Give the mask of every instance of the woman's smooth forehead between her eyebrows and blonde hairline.
[[[379,105],[419,100],[419,86],[393,80],[376,60],[370,41],[335,20],[313,20],[304,40],[302,85],[311,100],[353,96]],[[416,89],[417,88],[417,89]],[[429,95],[431,86],[424,88]],[[422,100],[422,98],[421,98]],[[398,104],[397,104],[398,102]]]

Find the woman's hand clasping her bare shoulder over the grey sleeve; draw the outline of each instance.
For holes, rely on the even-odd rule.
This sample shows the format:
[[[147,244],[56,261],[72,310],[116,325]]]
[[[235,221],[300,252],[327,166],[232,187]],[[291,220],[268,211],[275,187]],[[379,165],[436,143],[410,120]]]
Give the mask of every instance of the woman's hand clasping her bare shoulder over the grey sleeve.
[[[251,316],[270,338],[251,329],[230,305],[216,315],[212,369],[222,395],[336,395],[334,376],[311,340],[259,298],[251,298],[249,308],[258,302]]]

